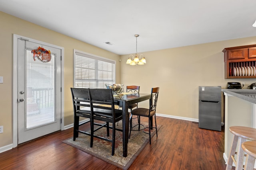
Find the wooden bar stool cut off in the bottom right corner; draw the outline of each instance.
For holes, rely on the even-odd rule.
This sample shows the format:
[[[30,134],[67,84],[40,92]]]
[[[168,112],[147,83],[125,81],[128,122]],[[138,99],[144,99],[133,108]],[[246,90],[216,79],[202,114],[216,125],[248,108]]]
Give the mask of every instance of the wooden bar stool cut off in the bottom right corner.
[[[242,143],[242,149],[247,153],[244,170],[253,170],[256,158],[256,141]]]

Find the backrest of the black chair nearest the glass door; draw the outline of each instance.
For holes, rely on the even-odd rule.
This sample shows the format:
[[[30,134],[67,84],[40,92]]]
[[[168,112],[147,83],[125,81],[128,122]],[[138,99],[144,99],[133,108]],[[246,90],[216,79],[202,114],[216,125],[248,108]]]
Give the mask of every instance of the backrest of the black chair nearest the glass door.
[[[88,88],[70,88],[73,100],[74,111],[80,107],[90,107],[90,96]]]

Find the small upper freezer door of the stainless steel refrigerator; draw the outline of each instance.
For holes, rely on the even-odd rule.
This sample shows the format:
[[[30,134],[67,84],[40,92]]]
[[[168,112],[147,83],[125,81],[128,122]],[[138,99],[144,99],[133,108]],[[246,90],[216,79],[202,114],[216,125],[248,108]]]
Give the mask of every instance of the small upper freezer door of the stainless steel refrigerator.
[[[199,100],[221,101],[221,86],[199,86]]]

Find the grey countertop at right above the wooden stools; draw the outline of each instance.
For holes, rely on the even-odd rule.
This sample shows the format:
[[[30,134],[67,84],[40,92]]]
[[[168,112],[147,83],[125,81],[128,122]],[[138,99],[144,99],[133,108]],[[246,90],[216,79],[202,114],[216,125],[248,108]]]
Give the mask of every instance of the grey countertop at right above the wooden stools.
[[[222,89],[221,91],[256,104],[256,90],[254,89]]]

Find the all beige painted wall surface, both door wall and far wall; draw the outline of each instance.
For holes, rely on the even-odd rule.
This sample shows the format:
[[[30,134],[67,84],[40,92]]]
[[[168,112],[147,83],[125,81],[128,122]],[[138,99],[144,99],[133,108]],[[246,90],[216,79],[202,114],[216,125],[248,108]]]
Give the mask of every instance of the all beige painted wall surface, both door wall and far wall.
[[[12,70],[13,34],[64,47],[64,122],[73,121],[70,87],[73,86],[73,49],[116,60],[116,82],[141,86],[140,92],[150,93],[151,87],[160,87],[157,113],[169,116],[198,119],[198,86],[222,86],[227,82],[245,82],[254,79],[224,79],[225,47],[256,44],[256,37],[219,41],[180,48],[143,53],[147,64],[130,66],[128,55],[120,56],[92,45],[56,33],[44,27],[20,20],[0,12],[0,148],[12,144]],[[140,54],[140,53],[139,53]],[[158,59],[159,62],[156,62]],[[148,107],[148,102],[139,106]]]

